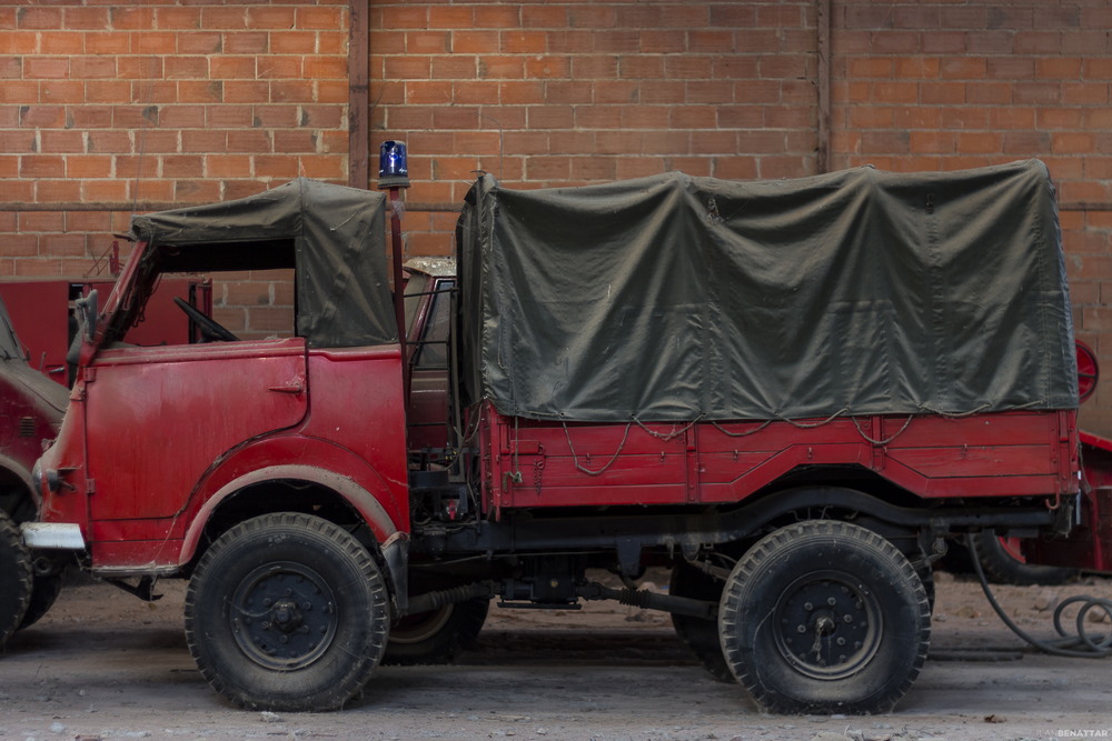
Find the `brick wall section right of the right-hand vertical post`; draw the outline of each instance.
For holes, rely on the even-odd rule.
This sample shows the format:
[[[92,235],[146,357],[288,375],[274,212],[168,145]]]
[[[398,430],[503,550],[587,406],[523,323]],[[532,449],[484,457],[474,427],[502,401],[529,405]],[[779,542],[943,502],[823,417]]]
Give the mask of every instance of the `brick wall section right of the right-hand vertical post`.
[[[834,4],[833,164],[1046,162],[1075,330],[1112,378],[1112,6]],[[1082,408],[1084,427],[1104,434],[1112,434],[1109,383]]]

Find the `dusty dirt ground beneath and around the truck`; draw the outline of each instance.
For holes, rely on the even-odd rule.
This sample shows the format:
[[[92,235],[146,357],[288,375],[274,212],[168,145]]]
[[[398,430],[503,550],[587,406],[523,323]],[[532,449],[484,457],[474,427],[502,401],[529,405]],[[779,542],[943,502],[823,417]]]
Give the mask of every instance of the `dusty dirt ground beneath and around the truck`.
[[[579,612],[493,609],[451,667],[383,667],[334,713],[259,713],[221,701],[181,628],[183,584],[146,604],[102,583],[68,588],[0,657],[0,738],[699,739],[927,741],[1112,738],[1112,659],[1024,648],[980,585],[937,578],[931,658],[886,715],[759,713],[689,657],[668,617],[612,603]],[[1000,587],[1021,627],[1053,634],[1064,597],[1112,598],[1112,580]],[[1092,625],[1095,633],[1108,623]]]

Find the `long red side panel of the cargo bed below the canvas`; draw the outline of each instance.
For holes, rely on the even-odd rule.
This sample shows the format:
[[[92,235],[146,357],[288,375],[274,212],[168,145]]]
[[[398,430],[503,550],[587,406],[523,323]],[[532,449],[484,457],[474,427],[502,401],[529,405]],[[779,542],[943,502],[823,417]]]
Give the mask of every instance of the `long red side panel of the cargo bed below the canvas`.
[[[1053,497],[1076,485],[1073,412],[686,428],[484,415],[485,501],[496,509],[741,501],[804,465],[857,465],[923,498]]]

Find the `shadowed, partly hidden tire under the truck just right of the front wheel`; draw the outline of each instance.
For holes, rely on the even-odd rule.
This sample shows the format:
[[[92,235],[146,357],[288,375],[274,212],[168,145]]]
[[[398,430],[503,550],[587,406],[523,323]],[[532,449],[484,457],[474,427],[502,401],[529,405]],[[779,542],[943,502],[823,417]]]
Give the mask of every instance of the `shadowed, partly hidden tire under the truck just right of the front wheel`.
[[[490,600],[476,597],[439,610],[407,615],[390,628],[384,664],[446,664],[475,644],[490,611]]]

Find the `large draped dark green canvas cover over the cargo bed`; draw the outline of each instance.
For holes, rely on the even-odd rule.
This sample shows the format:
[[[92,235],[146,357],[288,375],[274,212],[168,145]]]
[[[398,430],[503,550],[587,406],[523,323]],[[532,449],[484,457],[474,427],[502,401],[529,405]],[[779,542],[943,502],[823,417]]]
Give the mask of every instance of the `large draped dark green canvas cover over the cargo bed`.
[[[582,421],[1078,405],[1040,161],[520,191],[457,228],[465,398]]]

